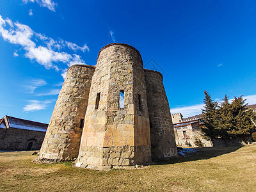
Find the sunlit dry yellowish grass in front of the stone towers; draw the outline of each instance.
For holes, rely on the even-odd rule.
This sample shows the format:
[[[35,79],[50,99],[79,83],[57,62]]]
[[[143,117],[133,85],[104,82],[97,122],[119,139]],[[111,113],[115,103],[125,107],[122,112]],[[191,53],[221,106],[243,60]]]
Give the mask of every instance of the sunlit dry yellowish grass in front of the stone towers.
[[[0,153],[0,191],[256,191],[256,145],[200,148],[141,169],[100,172]]]

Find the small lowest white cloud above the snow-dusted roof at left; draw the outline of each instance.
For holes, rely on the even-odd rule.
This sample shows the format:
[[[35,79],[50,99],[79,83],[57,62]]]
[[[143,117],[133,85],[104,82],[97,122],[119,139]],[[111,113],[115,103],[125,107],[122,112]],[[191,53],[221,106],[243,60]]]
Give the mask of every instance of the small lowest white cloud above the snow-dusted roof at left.
[[[23,110],[28,112],[40,111],[47,108],[47,104],[50,104],[54,100],[28,100],[29,104],[24,106]]]

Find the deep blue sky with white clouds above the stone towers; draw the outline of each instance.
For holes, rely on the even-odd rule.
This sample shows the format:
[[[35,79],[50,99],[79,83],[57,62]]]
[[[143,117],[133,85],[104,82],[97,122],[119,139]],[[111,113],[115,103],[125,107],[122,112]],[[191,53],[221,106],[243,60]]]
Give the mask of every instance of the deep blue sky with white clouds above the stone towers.
[[[65,70],[112,42],[163,73],[172,113],[200,113],[204,90],[256,103],[256,1],[1,0],[0,15],[1,117],[49,123]]]

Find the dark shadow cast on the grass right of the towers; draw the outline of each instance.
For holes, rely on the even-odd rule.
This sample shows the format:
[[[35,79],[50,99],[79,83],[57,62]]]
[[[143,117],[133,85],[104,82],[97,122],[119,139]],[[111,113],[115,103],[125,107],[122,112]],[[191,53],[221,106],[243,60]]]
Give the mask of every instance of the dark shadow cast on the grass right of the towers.
[[[234,147],[200,147],[200,148],[182,148],[178,147],[179,156],[173,157],[170,159],[161,159],[154,161],[156,164],[174,164],[182,163],[188,161],[196,161],[202,159],[210,159],[212,157],[221,156],[223,154],[228,154],[234,152],[239,148],[243,147],[234,146]]]

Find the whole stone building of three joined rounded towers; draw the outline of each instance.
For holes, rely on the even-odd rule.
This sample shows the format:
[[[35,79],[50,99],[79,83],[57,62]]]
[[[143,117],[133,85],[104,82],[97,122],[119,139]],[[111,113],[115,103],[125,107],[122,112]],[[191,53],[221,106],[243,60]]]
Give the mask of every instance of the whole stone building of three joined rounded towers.
[[[38,161],[76,159],[76,166],[105,169],[173,156],[163,76],[143,69],[137,49],[109,44],[97,65],[68,68]]]

